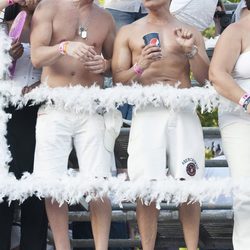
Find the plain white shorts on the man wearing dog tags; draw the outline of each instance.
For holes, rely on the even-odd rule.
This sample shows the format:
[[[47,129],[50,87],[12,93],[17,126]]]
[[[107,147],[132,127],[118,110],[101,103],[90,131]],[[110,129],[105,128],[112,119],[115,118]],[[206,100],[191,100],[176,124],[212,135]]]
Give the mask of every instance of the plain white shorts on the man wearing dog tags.
[[[102,115],[75,114],[42,106],[36,125],[35,176],[66,173],[74,145],[81,174],[109,177],[114,157],[104,145],[104,134]]]

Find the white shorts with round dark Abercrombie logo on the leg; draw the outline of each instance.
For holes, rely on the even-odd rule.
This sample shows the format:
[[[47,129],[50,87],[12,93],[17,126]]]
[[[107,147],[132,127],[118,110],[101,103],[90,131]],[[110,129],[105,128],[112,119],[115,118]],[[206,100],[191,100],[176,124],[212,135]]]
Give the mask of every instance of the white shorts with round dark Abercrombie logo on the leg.
[[[205,146],[199,118],[193,111],[175,113],[147,107],[133,115],[128,147],[131,180],[202,178]]]

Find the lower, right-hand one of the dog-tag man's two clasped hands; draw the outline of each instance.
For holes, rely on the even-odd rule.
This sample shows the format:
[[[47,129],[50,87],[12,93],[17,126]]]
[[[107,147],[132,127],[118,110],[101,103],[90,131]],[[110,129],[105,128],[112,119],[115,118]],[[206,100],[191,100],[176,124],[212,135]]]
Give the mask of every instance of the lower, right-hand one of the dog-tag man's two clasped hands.
[[[100,55],[84,63],[85,68],[93,74],[102,74],[107,71],[107,61]]]

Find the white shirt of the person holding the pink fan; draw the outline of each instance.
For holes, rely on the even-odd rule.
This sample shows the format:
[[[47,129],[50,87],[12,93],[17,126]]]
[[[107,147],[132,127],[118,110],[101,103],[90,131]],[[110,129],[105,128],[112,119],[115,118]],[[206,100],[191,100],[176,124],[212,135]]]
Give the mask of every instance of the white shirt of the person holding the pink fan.
[[[23,44],[24,52],[16,62],[16,69],[13,76],[15,85],[19,87],[30,86],[41,79],[41,69],[33,67],[30,58],[30,45]]]

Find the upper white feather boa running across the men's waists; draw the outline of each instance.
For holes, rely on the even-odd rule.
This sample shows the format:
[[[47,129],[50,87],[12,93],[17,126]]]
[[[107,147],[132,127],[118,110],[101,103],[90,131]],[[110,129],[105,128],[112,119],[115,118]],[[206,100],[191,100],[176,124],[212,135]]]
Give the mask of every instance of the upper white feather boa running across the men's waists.
[[[2,82],[0,93],[13,105],[22,106],[32,100],[33,104],[53,101],[58,109],[73,111],[75,113],[95,113],[98,110],[114,110],[117,107],[129,103],[135,109],[141,109],[148,105],[155,107],[165,106],[172,110],[179,110],[187,106],[195,110],[201,107],[202,111],[211,112],[219,105],[219,98],[211,85],[206,87],[193,87],[179,89],[163,84],[142,86],[122,86],[118,84],[114,88],[100,89],[92,87],[70,86],[64,88],[50,88],[46,84],[34,89],[25,96],[21,95],[21,88],[15,87],[14,81]]]

